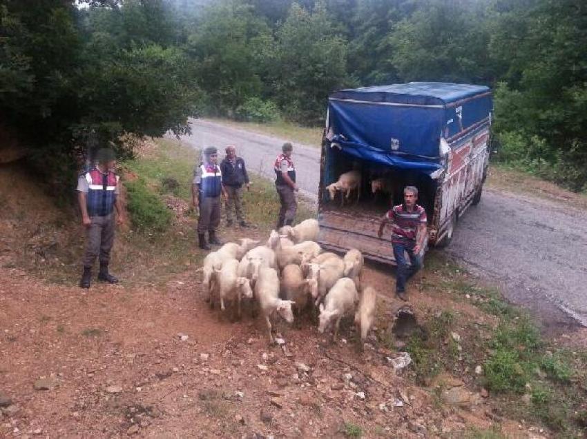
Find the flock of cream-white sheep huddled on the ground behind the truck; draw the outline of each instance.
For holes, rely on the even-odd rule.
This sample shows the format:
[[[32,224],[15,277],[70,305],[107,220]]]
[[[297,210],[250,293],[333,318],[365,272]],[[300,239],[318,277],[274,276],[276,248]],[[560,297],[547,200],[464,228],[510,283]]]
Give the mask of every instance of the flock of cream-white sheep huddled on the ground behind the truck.
[[[318,331],[323,333],[335,323],[336,341],[341,318],[355,312],[362,347],[373,324],[377,296],[372,287],[360,285],[363,255],[356,249],[343,258],[323,253],[316,243],[318,232],[318,221],[308,219],[271,231],[264,245],[242,238],[240,244],[227,243],[209,253],[202,283],[211,307],[219,301],[224,311],[231,302],[240,317],[242,300],[254,300],[267,322],[271,343],[275,315],[293,323],[294,311],[300,318],[308,307],[317,306]]]

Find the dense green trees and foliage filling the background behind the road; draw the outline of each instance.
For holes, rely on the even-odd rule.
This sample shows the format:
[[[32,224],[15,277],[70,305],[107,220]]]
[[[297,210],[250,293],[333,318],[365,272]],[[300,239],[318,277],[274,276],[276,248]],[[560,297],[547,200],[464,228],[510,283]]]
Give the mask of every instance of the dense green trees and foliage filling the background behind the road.
[[[46,154],[198,111],[314,125],[347,86],[490,85],[499,157],[587,176],[581,0],[0,0],[0,117]],[[197,111],[198,110],[198,111]]]

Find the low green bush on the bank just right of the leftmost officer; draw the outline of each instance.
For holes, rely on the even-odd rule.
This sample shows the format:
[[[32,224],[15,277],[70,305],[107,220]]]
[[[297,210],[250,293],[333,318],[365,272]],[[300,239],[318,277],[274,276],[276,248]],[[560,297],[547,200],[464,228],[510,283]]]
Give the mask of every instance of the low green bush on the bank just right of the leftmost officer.
[[[133,226],[141,231],[164,232],[173,214],[147,187],[144,179],[124,183],[128,192],[128,212]]]

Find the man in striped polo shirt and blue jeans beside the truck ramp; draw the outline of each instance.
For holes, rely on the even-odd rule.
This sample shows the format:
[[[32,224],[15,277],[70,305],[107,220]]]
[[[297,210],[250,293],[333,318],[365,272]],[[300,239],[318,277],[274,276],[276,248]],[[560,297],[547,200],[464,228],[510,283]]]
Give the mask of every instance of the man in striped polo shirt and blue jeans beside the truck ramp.
[[[385,223],[392,223],[392,245],[397,264],[396,294],[401,300],[407,300],[405,282],[422,267],[427,218],[424,208],[416,204],[418,200],[416,187],[406,186],[403,190],[403,200],[403,204],[394,206],[381,218],[377,236],[381,238]],[[410,258],[410,265],[407,265],[406,253]]]

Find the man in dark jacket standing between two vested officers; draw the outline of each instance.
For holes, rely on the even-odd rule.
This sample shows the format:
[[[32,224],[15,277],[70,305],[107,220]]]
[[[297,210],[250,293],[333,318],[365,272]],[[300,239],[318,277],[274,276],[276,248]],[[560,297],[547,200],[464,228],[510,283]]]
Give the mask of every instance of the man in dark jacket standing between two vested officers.
[[[244,160],[236,156],[234,145],[227,146],[225,151],[227,156],[220,163],[220,170],[224,192],[227,194],[227,226],[233,225],[234,209],[240,227],[249,227],[242,213],[242,185],[247,185],[247,190],[251,189],[247,168],[244,166]]]

